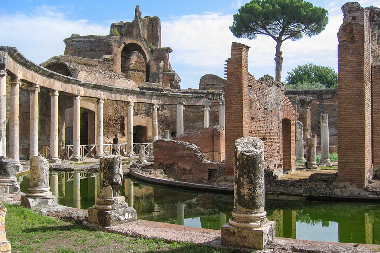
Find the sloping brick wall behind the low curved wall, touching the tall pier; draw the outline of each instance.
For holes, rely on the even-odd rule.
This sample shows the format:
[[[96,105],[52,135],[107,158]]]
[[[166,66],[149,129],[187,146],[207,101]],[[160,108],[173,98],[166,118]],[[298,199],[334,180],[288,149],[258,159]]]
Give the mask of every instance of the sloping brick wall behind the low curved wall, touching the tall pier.
[[[186,141],[196,145],[211,162],[222,162],[225,159],[225,131],[221,126],[207,127],[202,130],[173,140]]]

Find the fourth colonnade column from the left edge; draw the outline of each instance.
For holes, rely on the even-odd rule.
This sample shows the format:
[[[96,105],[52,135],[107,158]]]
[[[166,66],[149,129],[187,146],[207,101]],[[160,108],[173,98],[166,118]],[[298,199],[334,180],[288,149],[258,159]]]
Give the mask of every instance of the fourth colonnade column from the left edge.
[[[51,96],[51,113],[50,113],[50,163],[60,163],[58,148],[58,91],[50,92]]]

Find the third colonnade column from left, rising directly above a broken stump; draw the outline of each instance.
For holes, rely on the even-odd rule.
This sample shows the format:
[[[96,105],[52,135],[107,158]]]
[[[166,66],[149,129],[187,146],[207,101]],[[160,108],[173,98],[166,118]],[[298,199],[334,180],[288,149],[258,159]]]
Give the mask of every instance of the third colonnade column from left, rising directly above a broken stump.
[[[40,85],[29,87],[30,91],[30,119],[29,119],[29,157],[38,156],[38,92]]]

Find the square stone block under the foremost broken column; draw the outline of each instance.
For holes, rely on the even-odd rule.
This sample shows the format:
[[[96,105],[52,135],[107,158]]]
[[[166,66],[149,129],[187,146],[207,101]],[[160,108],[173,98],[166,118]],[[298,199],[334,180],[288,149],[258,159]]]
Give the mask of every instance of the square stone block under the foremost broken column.
[[[268,226],[254,229],[237,228],[227,223],[221,227],[220,234],[222,245],[263,249],[276,236],[276,222],[269,221]]]

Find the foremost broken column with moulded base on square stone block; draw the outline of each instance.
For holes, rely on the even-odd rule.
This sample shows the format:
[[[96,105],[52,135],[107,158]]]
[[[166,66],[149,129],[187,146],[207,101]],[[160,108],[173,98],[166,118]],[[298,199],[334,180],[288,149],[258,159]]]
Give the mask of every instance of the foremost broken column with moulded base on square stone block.
[[[264,143],[245,136],[235,141],[234,152],[234,209],[221,227],[221,242],[263,249],[276,236],[276,222],[269,221],[264,210]]]

